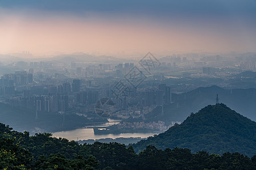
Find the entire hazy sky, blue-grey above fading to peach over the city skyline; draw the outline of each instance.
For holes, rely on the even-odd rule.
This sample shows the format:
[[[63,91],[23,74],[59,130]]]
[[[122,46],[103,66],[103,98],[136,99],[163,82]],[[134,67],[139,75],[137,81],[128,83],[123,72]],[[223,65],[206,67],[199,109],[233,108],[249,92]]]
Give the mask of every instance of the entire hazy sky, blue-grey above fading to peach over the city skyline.
[[[1,1],[0,53],[255,52],[255,0]]]

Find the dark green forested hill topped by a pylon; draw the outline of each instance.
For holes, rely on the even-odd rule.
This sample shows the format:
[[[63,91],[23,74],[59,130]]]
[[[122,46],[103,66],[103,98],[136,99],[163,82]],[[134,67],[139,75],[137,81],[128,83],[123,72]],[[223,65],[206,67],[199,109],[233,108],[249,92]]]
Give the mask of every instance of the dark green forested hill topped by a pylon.
[[[185,147],[192,152],[204,150],[215,154],[237,151],[251,156],[256,154],[256,122],[225,104],[208,105],[195,114],[191,113],[182,124],[133,147],[138,152],[148,145],[160,149]]]

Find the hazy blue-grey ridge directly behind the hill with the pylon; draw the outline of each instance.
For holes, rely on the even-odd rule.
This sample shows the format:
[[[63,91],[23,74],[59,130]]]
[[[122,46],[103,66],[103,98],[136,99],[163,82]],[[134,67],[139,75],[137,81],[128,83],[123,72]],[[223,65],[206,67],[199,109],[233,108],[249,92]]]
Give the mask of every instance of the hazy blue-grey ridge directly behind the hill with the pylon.
[[[172,94],[172,104],[164,105],[154,109],[146,115],[150,121],[184,121],[191,112],[197,112],[199,109],[209,104],[216,103],[216,95],[221,103],[241,113],[243,116],[256,121],[256,88],[237,88],[225,89],[218,86],[199,87],[195,90],[181,94]]]

